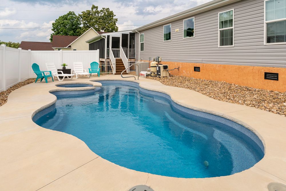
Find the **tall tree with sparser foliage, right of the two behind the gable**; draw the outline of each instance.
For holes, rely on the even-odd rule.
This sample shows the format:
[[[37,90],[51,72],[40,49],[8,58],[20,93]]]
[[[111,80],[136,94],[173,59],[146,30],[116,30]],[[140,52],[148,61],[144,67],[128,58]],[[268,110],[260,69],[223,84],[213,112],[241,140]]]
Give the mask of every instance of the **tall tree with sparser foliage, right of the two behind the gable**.
[[[98,6],[92,5],[91,10],[82,11],[82,14],[79,14],[82,21],[82,33],[90,27],[93,27],[96,31],[118,31],[118,27],[116,26],[118,19],[114,18],[115,16],[109,8],[98,10]]]

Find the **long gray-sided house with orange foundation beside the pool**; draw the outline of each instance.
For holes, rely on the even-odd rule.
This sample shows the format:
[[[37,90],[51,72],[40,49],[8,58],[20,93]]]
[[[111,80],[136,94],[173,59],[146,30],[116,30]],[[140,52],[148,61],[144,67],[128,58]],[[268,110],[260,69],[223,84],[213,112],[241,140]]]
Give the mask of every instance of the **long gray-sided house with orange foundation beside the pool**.
[[[285,0],[215,0],[132,31],[136,59],[172,74],[286,91]]]

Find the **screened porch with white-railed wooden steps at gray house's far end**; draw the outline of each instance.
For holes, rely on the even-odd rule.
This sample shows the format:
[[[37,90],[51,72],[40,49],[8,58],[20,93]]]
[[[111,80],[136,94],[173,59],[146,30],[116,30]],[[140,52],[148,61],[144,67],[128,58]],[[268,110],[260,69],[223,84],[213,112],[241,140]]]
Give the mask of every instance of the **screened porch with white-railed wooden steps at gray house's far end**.
[[[99,49],[101,62],[112,62],[116,66],[116,74],[128,66],[128,61],[135,61],[135,33],[131,30],[100,34],[86,42],[89,50]]]

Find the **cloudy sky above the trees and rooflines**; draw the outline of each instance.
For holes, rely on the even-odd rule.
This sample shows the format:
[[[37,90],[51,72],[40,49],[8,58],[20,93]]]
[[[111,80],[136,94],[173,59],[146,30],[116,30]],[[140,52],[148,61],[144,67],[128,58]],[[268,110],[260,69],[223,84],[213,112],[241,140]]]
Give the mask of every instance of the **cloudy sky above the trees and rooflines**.
[[[4,42],[49,42],[52,23],[68,11],[76,14],[92,4],[109,7],[118,19],[118,30],[130,30],[210,0],[1,0],[0,40]],[[37,28],[38,29],[35,29]],[[5,29],[9,28],[9,29]],[[11,29],[26,28],[26,29]],[[33,28],[33,29],[27,29]]]

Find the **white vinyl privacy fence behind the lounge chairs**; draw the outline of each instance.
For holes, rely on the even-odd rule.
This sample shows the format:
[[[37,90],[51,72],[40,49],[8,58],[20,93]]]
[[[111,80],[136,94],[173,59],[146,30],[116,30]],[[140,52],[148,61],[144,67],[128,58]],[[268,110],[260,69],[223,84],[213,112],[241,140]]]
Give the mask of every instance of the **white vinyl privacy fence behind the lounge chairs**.
[[[74,62],[82,62],[84,69],[90,68],[91,62],[99,62],[99,50],[76,50],[76,51],[33,51],[22,50],[21,48],[10,48],[0,46],[0,92],[9,87],[35,78],[32,64],[37,63],[40,70],[46,71],[46,62],[55,63],[60,69],[61,64],[66,63],[67,68],[74,69]]]

